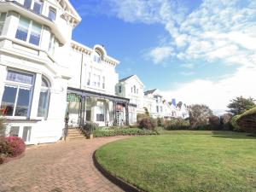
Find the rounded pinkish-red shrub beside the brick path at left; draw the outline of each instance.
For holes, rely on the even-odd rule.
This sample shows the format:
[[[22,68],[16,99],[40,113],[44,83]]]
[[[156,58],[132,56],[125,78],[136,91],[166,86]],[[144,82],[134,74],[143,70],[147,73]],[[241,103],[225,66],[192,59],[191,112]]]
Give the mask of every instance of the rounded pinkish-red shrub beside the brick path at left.
[[[20,137],[5,137],[8,145],[7,155],[9,157],[16,157],[25,151],[26,145]]]

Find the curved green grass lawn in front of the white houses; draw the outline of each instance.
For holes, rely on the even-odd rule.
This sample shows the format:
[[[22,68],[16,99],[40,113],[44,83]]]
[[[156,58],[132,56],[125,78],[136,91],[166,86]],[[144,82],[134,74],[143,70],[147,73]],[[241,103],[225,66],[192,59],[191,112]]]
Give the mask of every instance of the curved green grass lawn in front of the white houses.
[[[96,159],[146,191],[256,191],[256,139],[224,131],[165,131],[108,143]]]

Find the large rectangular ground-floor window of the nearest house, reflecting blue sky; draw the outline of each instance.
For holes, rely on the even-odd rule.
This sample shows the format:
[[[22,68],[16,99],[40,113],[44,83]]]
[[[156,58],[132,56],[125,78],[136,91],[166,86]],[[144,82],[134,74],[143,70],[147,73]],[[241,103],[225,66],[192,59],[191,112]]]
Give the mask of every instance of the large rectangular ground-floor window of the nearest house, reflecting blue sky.
[[[33,75],[8,71],[1,111],[6,116],[27,117],[31,108]]]

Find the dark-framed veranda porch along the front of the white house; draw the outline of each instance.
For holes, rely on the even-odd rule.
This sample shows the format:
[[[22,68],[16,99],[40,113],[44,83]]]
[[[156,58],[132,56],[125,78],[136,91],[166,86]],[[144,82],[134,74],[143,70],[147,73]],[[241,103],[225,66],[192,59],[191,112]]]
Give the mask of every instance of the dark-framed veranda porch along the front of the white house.
[[[86,121],[99,126],[129,125],[129,99],[89,90],[67,88],[67,126],[82,127]]]

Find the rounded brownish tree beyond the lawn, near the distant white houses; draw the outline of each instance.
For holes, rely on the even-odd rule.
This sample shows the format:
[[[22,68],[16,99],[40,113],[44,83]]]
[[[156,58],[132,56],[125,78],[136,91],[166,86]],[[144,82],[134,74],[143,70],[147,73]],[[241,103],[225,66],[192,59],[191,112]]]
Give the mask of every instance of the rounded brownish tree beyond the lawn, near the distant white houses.
[[[207,125],[209,117],[212,116],[212,110],[206,105],[189,106],[189,123],[192,126]]]

